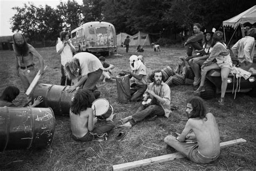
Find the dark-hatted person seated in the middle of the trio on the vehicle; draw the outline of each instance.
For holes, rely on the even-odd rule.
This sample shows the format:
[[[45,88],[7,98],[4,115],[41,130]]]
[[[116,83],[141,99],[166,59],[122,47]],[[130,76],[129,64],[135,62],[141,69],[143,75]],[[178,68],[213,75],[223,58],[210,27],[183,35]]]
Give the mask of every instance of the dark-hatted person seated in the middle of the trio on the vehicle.
[[[194,82],[193,85],[197,86],[200,83],[201,80],[201,74],[200,74],[200,67],[203,65],[204,61],[209,57],[210,51],[211,51],[211,42],[212,42],[212,31],[206,31],[204,32],[204,39],[203,39],[203,49],[195,50],[196,52],[199,52],[200,55],[188,60],[188,64],[190,65],[191,69],[194,72]]]

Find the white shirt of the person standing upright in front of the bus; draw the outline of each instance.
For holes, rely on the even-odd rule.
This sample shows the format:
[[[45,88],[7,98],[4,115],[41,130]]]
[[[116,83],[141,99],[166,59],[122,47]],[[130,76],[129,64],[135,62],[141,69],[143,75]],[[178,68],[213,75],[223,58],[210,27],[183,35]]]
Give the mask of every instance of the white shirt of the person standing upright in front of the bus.
[[[72,44],[70,44],[70,45],[75,49],[75,47]],[[63,46],[63,42],[60,41],[56,45],[56,51],[58,52],[62,48],[62,46]],[[71,47],[68,44],[66,44],[62,53],[60,53],[60,57],[61,57],[60,61],[63,66],[65,66],[66,63],[69,62],[73,58],[73,53],[71,51]]]

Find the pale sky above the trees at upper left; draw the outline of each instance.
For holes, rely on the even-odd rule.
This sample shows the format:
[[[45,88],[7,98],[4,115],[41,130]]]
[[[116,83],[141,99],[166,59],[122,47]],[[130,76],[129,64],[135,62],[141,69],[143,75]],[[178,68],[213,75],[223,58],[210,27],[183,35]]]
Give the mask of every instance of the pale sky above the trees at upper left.
[[[22,7],[24,4],[29,2],[33,3],[35,6],[42,5],[43,8],[45,4],[56,8],[60,2],[67,2],[68,0],[0,0],[0,36],[11,36],[14,33],[11,32],[10,18],[15,15],[15,10],[11,8],[14,6]],[[83,0],[76,0],[78,4],[82,5]]]

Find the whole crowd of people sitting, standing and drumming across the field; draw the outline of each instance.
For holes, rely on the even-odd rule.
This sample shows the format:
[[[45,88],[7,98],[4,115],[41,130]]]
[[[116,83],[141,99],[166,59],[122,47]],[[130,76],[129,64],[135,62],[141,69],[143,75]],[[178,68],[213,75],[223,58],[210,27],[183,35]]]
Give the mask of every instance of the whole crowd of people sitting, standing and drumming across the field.
[[[147,80],[147,69],[144,65],[143,57],[132,55],[130,57],[130,67],[132,71],[123,70],[128,74],[131,87],[131,101],[143,101],[138,110],[128,117],[120,120],[119,127],[131,128],[137,122],[146,117],[163,116],[169,118],[171,111],[171,85],[180,85],[185,83],[187,73],[186,62],[191,66],[195,73],[194,85],[200,86],[196,93],[204,91],[204,80],[206,73],[211,69],[221,70],[221,98],[220,104],[224,104],[224,95],[227,86],[227,76],[232,67],[232,61],[227,47],[223,41],[221,31],[205,33],[200,31],[200,24],[194,24],[194,36],[188,38],[185,45],[188,45],[187,57],[178,59],[178,66],[173,72],[173,76],[163,81],[161,70],[155,70],[149,76],[151,83]],[[241,50],[240,44],[251,41],[250,33],[248,37],[242,39],[232,48],[235,55],[238,56],[241,63],[248,65],[252,62],[251,51],[247,53]],[[253,32],[255,34],[255,32]],[[39,59],[41,74],[44,73],[42,56],[28,43],[24,36],[16,33],[14,35],[14,50],[16,54],[17,76],[21,78],[24,91],[29,87],[31,80],[35,77],[36,71],[33,64],[33,57]],[[129,37],[126,42],[126,52],[129,49]],[[203,39],[203,46],[200,40]],[[253,38],[254,40],[254,38]],[[247,47],[247,45],[244,45]],[[254,46],[253,46],[254,47]],[[196,57],[192,56],[193,49],[199,53]],[[246,48],[245,48],[246,49]],[[62,64],[61,85],[70,85],[68,92],[72,92],[77,87],[82,87],[75,93],[71,101],[70,121],[71,136],[76,141],[92,141],[103,138],[103,135],[114,128],[113,117],[107,118],[102,126],[96,126],[97,118],[93,114],[92,102],[99,98],[100,92],[96,87],[98,80],[114,80],[110,76],[110,70],[113,65],[107,64],[104,57],[97,58],[91,53],[75,52],[70,42],[68,32],[60,34],[60,41],[56,45],[56,51],[60,54]],[[214,61],[217,60],[217,61]],[[200,74],[201,70],[201,74]],[[72,83],[73,82],[73,83]],[[10,93],[11,92],[11,93]],[[0,104],[3,106],[12,106],[14,100],[19,94],[16,87],[6,88],[0,97]],[[34,101],[34,106],[42,102],[42,97]],[[220,138],[217,123],[213,114],[207,113],[204,100],[199,97],[192,97],[187,100],[186,113],[188,121],[181,134],[177,138],[169,135],[164,141],[167,145],[177,149],[180,153],[194,162],[208,163],[218,158],[220,153]],[[188,134],[193,131],[194,134]],[[191,143],[192,142],[192,143]]]

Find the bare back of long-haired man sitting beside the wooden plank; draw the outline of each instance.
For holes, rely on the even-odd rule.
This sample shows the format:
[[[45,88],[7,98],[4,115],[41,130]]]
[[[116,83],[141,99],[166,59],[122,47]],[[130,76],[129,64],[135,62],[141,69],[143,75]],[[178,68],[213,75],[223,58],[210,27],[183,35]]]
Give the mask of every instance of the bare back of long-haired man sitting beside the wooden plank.
[[[188,121],[190,122],[191,129],[196,135],[199,152],[210,157],[219,154],[220,136],[217,122],[213,114],[207,113],[206,118],[193,118]]]

